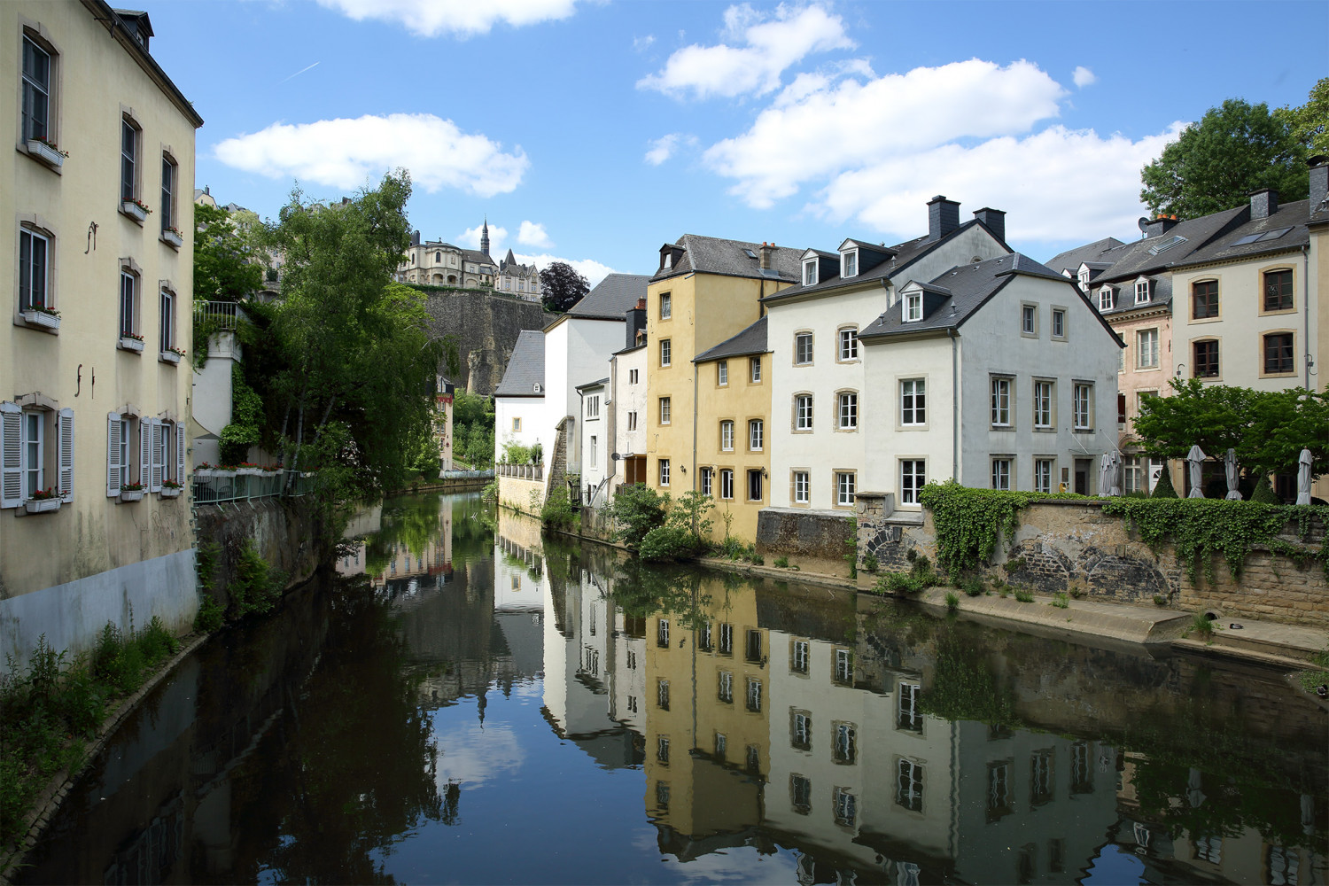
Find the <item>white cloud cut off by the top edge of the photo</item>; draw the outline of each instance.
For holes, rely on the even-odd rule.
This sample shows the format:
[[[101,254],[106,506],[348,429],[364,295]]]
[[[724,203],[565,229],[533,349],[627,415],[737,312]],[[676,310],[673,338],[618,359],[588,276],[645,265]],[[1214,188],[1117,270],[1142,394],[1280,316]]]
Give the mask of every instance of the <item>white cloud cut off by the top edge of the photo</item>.
[[[489,33],[496,24],[513,28],[566,19],[575,0],[318,0],[319,5],[356,20],[380,19],[400,24],[420,37]]]

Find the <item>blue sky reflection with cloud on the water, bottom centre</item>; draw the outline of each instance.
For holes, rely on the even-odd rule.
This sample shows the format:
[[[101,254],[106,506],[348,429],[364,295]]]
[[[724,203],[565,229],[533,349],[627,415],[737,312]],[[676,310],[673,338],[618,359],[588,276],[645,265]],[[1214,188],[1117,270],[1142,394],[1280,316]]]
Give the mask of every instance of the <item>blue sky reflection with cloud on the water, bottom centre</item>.
[[[433,712],[439,792],[461,780],[455,825],[421,821],[381,855],[403,883],[793,882],[793,855],[727,849],[692,862],[666,857],[642,808],[639,766],[605,769],[560,741],[541,713],[542,687],[486,693]],[[634,810],[623,814],[623,810]],[[477,846],[488,851],[476,851]]]

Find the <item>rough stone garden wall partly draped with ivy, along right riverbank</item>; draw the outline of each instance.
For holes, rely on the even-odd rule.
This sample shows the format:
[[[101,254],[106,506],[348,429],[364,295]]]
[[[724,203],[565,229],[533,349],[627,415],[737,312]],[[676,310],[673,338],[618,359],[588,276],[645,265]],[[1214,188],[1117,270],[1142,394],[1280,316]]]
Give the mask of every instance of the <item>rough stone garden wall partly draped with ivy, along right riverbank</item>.
[[[932,513],[893,513],[889,495],[859,495],[859,586],[876,576],[864,570],[864,558],[876,557],[878,571],[906,571],[910,550],[937,561],[937,534]],[[1244,616],[1329,628],[1329,580],[1318,562],[1298,566],[1268,549],[1252,547],[1240,578],[1216,557],[1212,580],[1201,563],[1191,582],[1171,542],[1151,549],[1122,517],[1103,513],[1102,502],[1046,501],[1019,511],[1014,546],[1002,534],[985,570],[1017,587],[1043,594],[1083,590],[1090,598],[1122,603],[1155,603],[1171,608],[1213,610],[1221,616]],[[1324,542],[1316,526],[1309,542]],[[1282,541],[1300,542],[1293,533]]]

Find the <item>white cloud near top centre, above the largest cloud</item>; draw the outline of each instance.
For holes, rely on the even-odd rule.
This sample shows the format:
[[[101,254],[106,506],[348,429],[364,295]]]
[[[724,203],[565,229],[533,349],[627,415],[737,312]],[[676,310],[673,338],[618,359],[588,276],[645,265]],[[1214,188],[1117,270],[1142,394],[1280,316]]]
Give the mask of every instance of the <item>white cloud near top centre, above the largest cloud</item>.
[[[821,5],[780,4],[773,16],[750,4],[724,11],[724,37],[714,46],[692,44],[668,57],[658,73],[637,81],[638,89],[655,89],[682,97],[764,96],[780,88],[780,76],[815,52],[852,49],[844,21]]]

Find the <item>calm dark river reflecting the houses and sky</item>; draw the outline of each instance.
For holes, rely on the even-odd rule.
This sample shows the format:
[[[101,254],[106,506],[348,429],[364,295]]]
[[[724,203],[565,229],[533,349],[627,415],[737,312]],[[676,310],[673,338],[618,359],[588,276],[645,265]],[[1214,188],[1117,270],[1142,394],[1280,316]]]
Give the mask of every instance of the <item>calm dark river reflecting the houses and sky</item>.
[[[639,569],[474,497],[165,681],[21,882],[1324,883],[1282,675]]]

